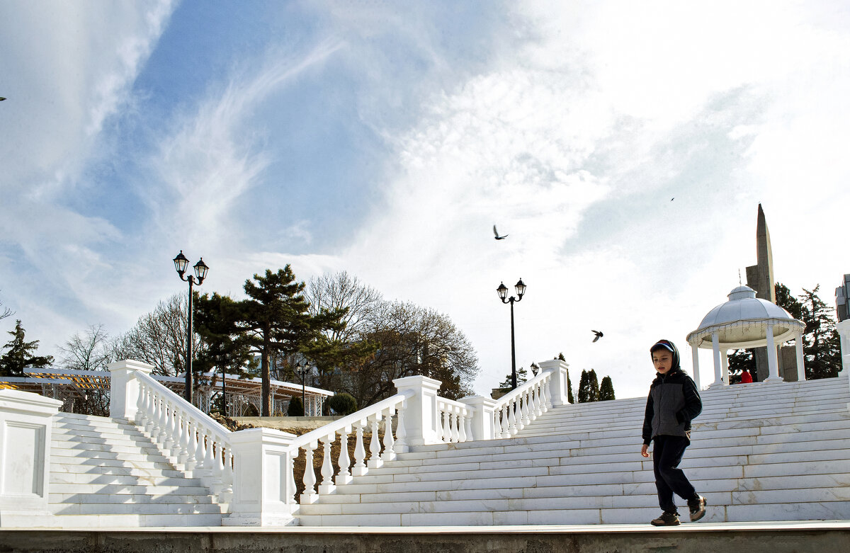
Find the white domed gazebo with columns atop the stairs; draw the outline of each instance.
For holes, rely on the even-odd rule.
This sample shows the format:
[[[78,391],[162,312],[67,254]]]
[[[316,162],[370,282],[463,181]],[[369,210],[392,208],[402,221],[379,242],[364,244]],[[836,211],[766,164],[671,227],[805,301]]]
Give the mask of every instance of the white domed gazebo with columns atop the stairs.
[[[764,381],[779,381],[776,347],[785,341],[796,341],[797,380],[806,379],[803,367],[802,334],[806,324],[773,302],[756,297],[749,286],[738,286],[723,302],[706,314],[700,327],[688,335],[694,355],[694,381],[700,387],[699,348],[714,351],[714,382],[710,387],[728,385],[730,349],[768,347],[769,376]],[[723,352],[723,355],[721,355]]]

